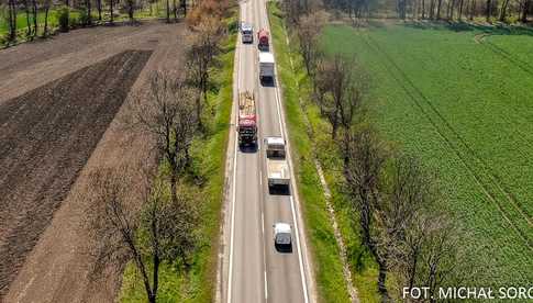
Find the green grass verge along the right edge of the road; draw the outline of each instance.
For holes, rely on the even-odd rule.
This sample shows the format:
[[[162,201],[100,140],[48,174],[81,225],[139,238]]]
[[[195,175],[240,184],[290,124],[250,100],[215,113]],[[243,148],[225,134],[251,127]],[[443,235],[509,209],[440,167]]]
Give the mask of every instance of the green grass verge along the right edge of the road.
[[[295,175],[297,176],[299,193],[303,206],[306,228],[311,244],[314,272],[321,302],[349,302],[349,294],[343,277],[342,262],[338,257],[338,246],[334,237],[333,227],[326,209],[326,201],[320,177],[318,175],[314,156],[330,155],[334,146],[324,132],[324,121],[319,111],[309,100],[310,82],[301,61],[301,56],[286,44],[287,31],[284,26],[282,12],[275,2],[268,3],[273,43],[276,49],[278,77],[284,94],[289,139],[293,148]],[[292,64],[295,65],[292,68]],[[299,100],[301,99],[301,100]],[[300,103],[301,102],[301,103]],[[307,116],[306,116],[307,115]],[[307,121],[312,128],[309,132]],[[315,148],[318,150],[315,150]],[[374,282],[377,271],[374,262],[362,250],[358,235],[351,228],[349,214],[346,212],[344,195],[340,190],[342,178],[336,178],[334,160],[337,150],[327,158],[320,158],[326,181],[332,191],[332,203],[342,229],[347,250],[352,255],[360,256],[357,268],[352,267],[353,280],[358,291],[360,302],[378,302],[377,285]]]

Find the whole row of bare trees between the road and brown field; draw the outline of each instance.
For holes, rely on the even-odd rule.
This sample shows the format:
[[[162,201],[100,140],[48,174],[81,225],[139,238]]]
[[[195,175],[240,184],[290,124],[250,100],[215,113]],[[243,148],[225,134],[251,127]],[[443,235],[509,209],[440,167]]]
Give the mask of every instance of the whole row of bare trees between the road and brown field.
[[[199,2],[192,11],[203,10]],[[187,65],[179,72],[154,71],[149,94],[134,98],[129,127],[155,139],[156,162],[137,165],[145,169],[101,170],[90,178],[96,189],[93,238],[99,244],[99,262],[132,260],[148,302],[156,302],[163,263],[189,270],[198,243],[199,190],[187,181],[191,171],[190,148],[197,136],[206,135],[203,109],[208,102],[209,71],[225,35],[224,24],[213,14],[191,21]],[[159,164],[168,170],[159,175]],[[132,176],[144,176],[138,182]],[[137,178],[138,179],[138,178]],[[136,192],[125,190],[132,184]],[[142,198],[141,210],[132,209]],[[101,252],[103,251],[103,254]],[[109,263],[107,265],[109,266]]]

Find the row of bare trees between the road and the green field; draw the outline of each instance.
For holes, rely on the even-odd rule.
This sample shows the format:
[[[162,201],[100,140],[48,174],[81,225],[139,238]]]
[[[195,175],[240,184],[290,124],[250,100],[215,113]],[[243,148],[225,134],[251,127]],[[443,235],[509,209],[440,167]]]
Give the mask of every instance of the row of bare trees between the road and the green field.
[[[286,9],[291,4],[286,3]],[[312,81],[310,98],[329,122],[331,141],[342,157],[353,227],[378,265],[384,302],[391,298],[389,272],[396,282],[392,298],[399,298],[402,288],[421,285],[429,287],[430,298],[437,298],[440,287],[466,278],[459,272],[465,261],[459,232],[440,211],[443,201],[436,176],[417,158],[390,148],[366,122],[370,79],[365,69],[355,58],[320,52],[319,36],[326,20],[324,11],[312,10],[289,27],[299,37]]]

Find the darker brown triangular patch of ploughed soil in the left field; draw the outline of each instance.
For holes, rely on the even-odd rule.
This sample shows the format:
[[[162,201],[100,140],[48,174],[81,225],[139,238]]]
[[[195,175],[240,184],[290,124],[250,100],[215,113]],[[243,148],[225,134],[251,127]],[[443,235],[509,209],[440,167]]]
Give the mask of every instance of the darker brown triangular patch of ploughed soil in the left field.
[[[0,296],[51,223],[152,52],[130,50],[0,104]]]

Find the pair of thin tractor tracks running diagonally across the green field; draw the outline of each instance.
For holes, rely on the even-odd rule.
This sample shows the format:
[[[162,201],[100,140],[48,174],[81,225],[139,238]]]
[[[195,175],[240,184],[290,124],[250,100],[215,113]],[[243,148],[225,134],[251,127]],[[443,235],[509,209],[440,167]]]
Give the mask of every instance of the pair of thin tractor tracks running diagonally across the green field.
[[[500,194],[503,193],[503,195],[507,197],[507,199],[511,202],[511,204],[513,204],[514,209],[517,211],[519,211],[520,215],[522,215],[525,218],[525,221],[528,222],[528,225],[530,225],[530,227],[531,227],[531,221],[523,213],[521,207],[517,205],[517,203],[509,195],[509,193],[502,188],[501,184],[499,184],[498,182],[495,182],[493,179],[496,177],[492,173],[486,171],[487,170],[486,164],[481,159],[479,159],[479,157],[477,157],[477,155],[475,155],[474,150],[466,144],[466,142],[458,135],[458,133],[449,125],[449,123],[440,114],[440,112],[431,104],[431,102],[423,96],[423,93],[420,92],[420,90],[412,83],[412,81],[407,77],[407,75],[404,75],[402,72],[402,70],[390,58],[390,56],[386,52],[380,49],[380,47],[377,45],[377,43],[371,37],[369,37],[368,35],[366,35],[366,37],[367,38],[364,38],[366,44],[370,48],[374,48],[375,50],[381,53],[385,56],[385,58],[389,61],[389,64],[391,64],[392,67],[397,70],[397,72],[400,75],[400,78],[402,78],[409,86],[411,86],[411,88],[414,90],[415,93],[418,93],[420,97],[422,97],[423,101],[425,101],[425,103],[427,103],[427,105],[435,112],[437,117],[444,122],[445,126],[447,126],[447,128],[452,132],[452,134],[455,135],[457,137],[457,139],[459,141],[459,143],[462,143],[466,147],[467,154],[470,154],[470,156],[473,156],[475,160],[481,162],[481,165],[482,165],[481,173],[485,172],[486,177],[489,177],[489,179],[491,181],[490,183],[492,183],[492,186],[495,186],[496,189],[500,191]],[[375,46],[371,45],[373,43],[375,44]],[[513,229],[518,233],[518,235],[525,242],[525,245],[531,250],[533,250],[533,244],[529,239],[528,234],[524,231],[521,231],[517,226],[517,224],[509,218],[509,214],[506,211],[503,211],[503,206],[498,202],[498,199],[495,197],[495,192],[491,192],[491,191],[493,191],[493,189],[492,190],[489,189],[490,184],[487,184],[486,182],[484,182],[481,180],[481,177],[476,172],[476,170],[470,165],[468,165],[468,161],[465,159],[465,156],[462,155],[462,153],[458,150],[458,146],[455,146],[455,144],[452,143],[452,139],[448,138],[443,133],[443,130],[441,130],[437,126],[437,123],[434,121],[434,119],[432,119],[430,116],[430,114],[427,113],[427,111],[423,109],[423,106],[420,104],[420,102],[417,100],[417,98],[413,96],[413,93],[409,91],[409,89],[402,83],[402,81],[397,76],[395,76],[392,72],[390,72],[390,75],[401,86],[401,88],[404,90],[404,92],[408,94],[408,97],[415,103],[415,105],[419,108],[419,110],[422,112],[422,114],[430,121],[432,126],[435,128],[435,131],[438,133],[438,135],[446,142],[446,144],[449,146],[449,148],[452,148],[452,150],[454,150],[454,153],[460,159],[463,165],[468,169],[470,175],[475,178],[476,182],[481,187],[481,189],[484,190],[486,195],[489,198],[489,200],[491,200],[497,205],[497,207],[499,209],[503,218],[513,227]]]

